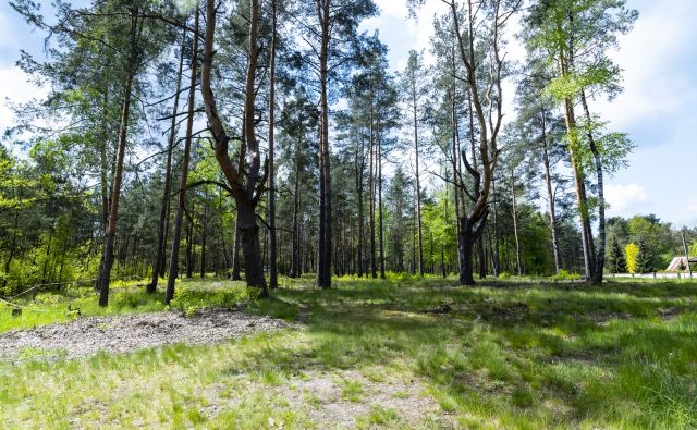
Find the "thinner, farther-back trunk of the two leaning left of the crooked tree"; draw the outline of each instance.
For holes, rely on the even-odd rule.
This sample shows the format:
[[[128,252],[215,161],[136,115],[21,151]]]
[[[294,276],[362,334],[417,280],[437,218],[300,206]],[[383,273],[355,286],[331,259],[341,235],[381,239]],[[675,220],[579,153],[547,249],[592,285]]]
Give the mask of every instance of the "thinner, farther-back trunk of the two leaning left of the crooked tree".
[[[164,265],[164,242],[166,242],[166,224],[167,214],[169,212],[170,194],[172,193],[172,151],[176,139],[176,113],[179,111],[179,94],[182,88],[182,70],[184,67],[184,45],[186,44],[186,33],[182,36],[182,47],[179,56],[179,72],[176,73],[176,95],[174,96],[174,107],[172,108],[172,121],[170,123],[170,136],[167,142],[167,162],[164,168],[164,189],[162,192],[162,207],[160,209],[160,221],[158,223],[157,233],[157,250],[155,253],[155,262],[152,263],[152,279],[147,286],[148,293],[157,291],[158,275],[163,272]]]

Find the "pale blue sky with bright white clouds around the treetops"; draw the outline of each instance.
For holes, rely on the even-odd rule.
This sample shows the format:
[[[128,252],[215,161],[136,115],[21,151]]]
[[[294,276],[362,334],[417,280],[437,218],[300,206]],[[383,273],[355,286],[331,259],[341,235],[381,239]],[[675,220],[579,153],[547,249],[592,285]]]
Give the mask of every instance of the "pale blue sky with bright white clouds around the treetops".
[[[406,64],[408,51],[430,57],[429,39],[442,3],[427,0],[417,19],[407,16],[406,0],[375,0],[380,15],[363,24],[377,29],[390,48],[394,71]],[[620,37],[612,59],[624,70],[624,91],[612,102],[595,100],[591,110],[610,122],[609,130],[627,133],[636,146],[629,165],[607,181],[608,216],[655,213],[675,226],[697,225],[697,8],[694,0],[628,0],[639,17],[634,29]],[[523,49],[511,28],[510,58]],[[5,99],[28,101],[46,89],[26,82],[14,66],[20,49],[41,58],[44,35],[32,30],[7,1],[0,2],[0,131],[12,125]],[[513,86],[508,85],[509,99]]]

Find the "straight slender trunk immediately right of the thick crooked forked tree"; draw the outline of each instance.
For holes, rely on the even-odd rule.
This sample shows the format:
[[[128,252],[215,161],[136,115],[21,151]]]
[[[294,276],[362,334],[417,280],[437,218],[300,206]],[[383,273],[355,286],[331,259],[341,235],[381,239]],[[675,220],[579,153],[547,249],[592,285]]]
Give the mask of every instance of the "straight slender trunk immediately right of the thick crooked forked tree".
[[[269,60],[269,286],[278,286],[276,244],[276,170],[273,127],[276,126],[276,0],[271,0],[271,50]]]

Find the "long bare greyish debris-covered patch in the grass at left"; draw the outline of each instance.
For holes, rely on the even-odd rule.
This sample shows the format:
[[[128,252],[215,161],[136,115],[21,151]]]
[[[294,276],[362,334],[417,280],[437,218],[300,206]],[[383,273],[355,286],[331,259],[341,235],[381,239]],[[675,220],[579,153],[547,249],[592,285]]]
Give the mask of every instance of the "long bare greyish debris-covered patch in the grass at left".
[[[103,351],[124,354],[175,343],[215,344],[291,327],[282,320],[240,310],[203,310],[80,318],[69,323],[0,334],[0,358],[78,358]]]

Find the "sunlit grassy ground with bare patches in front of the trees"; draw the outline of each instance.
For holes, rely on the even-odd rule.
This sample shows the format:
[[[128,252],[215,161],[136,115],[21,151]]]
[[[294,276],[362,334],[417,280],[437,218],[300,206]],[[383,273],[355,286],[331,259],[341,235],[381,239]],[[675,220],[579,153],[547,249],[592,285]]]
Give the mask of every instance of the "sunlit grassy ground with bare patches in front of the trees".
[[[161,295],[127,285],[114,291],[108,309],[93,293],[74,291],[26,300],[19,317],[0,307],[0,345],[17,333],[46,340],[5,344],[16,354],[0,359],[0,422],[697,428],[695,283],[511,279],[460,287],[453,279],[391,277],[338,279],[330,291],[311,284],[282,279],[272,298],[254,300],[240,283],[185,281],[170,308]],[[199,314],[239,306],[244,312]],[[137,351],[51,354],[53,331],[68,335],[87,324],[105,329],[109,343],[113,321],[145,332],[167,321],[154,331],[173,339],[172,327],[194,331]],[[223,334],[195,339],[196,327],[205,337],[204,327],[218,323]]]

